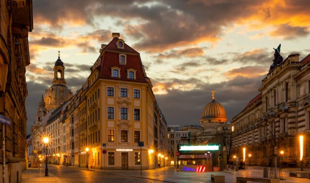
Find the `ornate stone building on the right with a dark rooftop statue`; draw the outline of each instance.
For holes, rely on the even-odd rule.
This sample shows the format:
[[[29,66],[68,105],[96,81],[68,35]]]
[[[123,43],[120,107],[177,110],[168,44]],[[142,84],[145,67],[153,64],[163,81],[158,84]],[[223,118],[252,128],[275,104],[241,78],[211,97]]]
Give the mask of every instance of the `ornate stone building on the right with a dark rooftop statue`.
[[[304,167],[309,167],[310,55],[301,60],[298,54],[281,58],[276,51],[274,64],[258,89],[260,93],[232,119],[232,151],[241,157],[245,147],[245,162],[251,154],[254,165],[277,162],[285,167],[300,166],[298,137],[303,135]]]

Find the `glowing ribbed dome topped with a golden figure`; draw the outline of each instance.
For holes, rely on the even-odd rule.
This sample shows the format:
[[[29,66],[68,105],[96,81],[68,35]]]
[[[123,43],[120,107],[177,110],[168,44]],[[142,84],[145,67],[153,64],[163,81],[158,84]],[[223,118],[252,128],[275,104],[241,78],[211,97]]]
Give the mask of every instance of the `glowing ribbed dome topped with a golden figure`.
[[[205,106],[200,122],[224,123],[226,121],[225,109],[220,103],[215,101],[214,91],[212,91],[212,101]]]

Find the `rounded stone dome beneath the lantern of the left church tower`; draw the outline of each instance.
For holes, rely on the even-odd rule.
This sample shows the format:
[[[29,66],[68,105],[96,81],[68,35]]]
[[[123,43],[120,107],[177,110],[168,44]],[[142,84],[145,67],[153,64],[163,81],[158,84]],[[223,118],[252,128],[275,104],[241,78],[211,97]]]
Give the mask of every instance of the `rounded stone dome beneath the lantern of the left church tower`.
[[[45,91],[44,102],[48,111],[58,108],[61,104],[68,101],[72,96],[72,91],[67,86],[55,84]]]

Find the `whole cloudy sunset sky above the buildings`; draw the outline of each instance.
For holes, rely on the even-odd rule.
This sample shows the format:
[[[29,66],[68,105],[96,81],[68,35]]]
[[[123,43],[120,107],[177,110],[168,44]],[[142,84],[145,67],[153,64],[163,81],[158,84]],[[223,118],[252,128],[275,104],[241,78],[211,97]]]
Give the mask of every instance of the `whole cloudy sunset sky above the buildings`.
[[[101,44],[120,33],[140,53],[168,125],[199,125],[220,102],[228,121],[259,92],[281,43],[286,58],[310,53],[309,0],[33,0],[27,133],[60,57],[75,93]]]

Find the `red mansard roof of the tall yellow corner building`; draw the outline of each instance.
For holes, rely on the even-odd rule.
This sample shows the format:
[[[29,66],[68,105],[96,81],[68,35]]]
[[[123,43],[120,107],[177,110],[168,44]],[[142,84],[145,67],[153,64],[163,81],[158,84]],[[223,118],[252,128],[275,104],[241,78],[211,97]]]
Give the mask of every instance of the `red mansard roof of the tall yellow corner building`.
[[[127,80],[147,83],[139,53],[129,47],[127,44],[124,44],[124,49],[118,49],[116,45],[117,40],[118,37],[114,37],[112,41],[104,48],[105,52],[101,57],[100,77],[114,80]],[[109,52],[109,50],[120,51],[123,54],[131,53],[137,55],[126,54],[126,64],[120,64],[119,53]],[[115,66],[121,68],[121,78],[111,76],[111,67]],[[127,79],[127,69],[136,70],[136,79]]]

